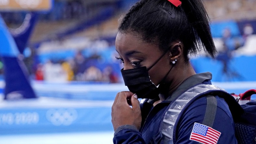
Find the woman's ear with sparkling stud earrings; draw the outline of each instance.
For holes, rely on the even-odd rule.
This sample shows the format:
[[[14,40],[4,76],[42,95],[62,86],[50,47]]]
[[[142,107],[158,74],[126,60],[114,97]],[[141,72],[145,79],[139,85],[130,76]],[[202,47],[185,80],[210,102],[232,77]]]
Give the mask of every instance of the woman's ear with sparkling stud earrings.
[[[181,42],[175,42],[170,48],[170,60],[179,60],[179,58],[182,56],[182,52],[183,45],[181,44]]]

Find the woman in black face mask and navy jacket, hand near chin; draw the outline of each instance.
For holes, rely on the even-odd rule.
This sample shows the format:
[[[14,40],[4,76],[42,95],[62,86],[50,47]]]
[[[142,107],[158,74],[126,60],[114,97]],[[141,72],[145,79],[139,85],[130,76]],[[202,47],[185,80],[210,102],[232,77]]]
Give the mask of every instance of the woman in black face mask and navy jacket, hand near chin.
[[[189,55],[201,50],[212,58],[216,54],[201,0],[141,0],[130,9],[116,37],[117,58],[130,91],[119,92],[112,106],[115,144],[237,143],[223,98],[198,98],[183,113],[170,108],[182,109],[179,102],[185,100],[176,99],[190,88],[211,85],[211,73],[196,74],[189,63]],[[208,113],[209,97],[216,106],[213,113]]]

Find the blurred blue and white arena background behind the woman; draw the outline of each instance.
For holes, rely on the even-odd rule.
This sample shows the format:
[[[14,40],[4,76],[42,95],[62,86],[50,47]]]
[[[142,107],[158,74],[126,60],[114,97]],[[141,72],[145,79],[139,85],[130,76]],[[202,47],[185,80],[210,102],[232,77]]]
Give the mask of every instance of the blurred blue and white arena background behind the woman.
[[[115,36],[136,1],[0,0],[1,144],[112,143],[111,105],[128,90]],[[203,1],[219,54],[191,57],[196,72],[256,89],[256,0]]]

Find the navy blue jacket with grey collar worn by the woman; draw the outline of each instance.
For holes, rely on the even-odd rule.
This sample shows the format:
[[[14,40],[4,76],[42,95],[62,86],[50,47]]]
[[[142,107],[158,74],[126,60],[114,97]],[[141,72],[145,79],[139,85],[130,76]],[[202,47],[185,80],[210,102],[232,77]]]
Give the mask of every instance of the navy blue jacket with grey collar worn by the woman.
[[[160,124],[168,105],[187,89],[198,84],[211,84],[211,73],[196,74],[187,78],[174,92],[163,101],[153,107],[153,102],[143,102],[141,104],[142,126],[137,130],[134,126],[124,125],[117,128],[114,134],[114,144],[147,144],[158,135]],[[235,123],[227,103],[223,98],[216,96],[217,111],[212,128],[221,132],[218,143],[236,144]],[[196,141],[189,140],[194,123],[202,124],[207,100],[206,97],[199,98],[193,102],[183,115],[177,125],[176,144],[198,144]]]

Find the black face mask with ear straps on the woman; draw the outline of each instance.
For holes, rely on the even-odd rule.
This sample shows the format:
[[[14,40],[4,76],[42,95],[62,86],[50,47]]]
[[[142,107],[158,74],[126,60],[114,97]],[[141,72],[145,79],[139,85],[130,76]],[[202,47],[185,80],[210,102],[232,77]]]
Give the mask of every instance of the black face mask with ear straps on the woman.
[[[121,70],[125,86],[127,86],[131,92],[136,93],[138,98],[154,99],[156,98],[156,96],[159,95],[160,90],[150,80],[148,71],[163,57],[163,55],[148,69],[146,68],[146,66],[143,66],[134,69]],[[173,66],[171,67],[171,69],[172,68]],[[169,72],[171,71],[171,69],[169,70]],[[165,75],[161,82],[167,77],[169,72]]]

